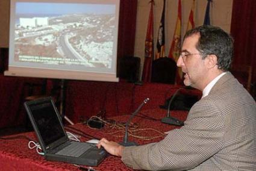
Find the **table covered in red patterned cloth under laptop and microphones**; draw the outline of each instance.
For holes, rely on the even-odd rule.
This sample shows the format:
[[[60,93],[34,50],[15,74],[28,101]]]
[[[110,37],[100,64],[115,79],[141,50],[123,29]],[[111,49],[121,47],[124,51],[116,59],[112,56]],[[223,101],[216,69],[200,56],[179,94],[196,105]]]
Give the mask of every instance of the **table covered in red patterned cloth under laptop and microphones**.
[[[155,137],[159,134],[152,128],[160,132],[166,132],[171,129],[180,128],[180,126],[166,125],[160,122],[160,119],[166,116],[167,111],[157,108],[155,110],[144,110],[134,117],[132,122],[139,126],[137,128],[140,136],[145,137]],[[186,120],[187,111],[172,111],[172,116],[180,120]],[[111,117],[110,119],[117,120],[118,122],[125,123],[130,117],[129,114],[123,114],[122,116]],[[148,119],[147,117],[152,117],[156,120]],[[102,129],[91,129],[89,126],[83,123],[77,123],[72,126],[67,126],[66,131],[74,131],[74,133],[90,134],[96,138],[105,137],[108,140],[114,140],[121,142],[124,133],[116,128],[110,128],[109,126],[104,126]],[[114,134],[112,134],[114,133]],[[46,161],[41,155],[37,154],[36,149],[28,148],[28,139],[24,137],[37,140],[34,132],[25,132],[17,135],[10,135],[4,138],[9,138],[8,140],[0,140],[0,168],[2,170],[80,170],[78,167],[69,163],[62,163],[58,161]],[[142,140],[136,137],[129,137],[129,140],[136,141],[139,145],[145,145],[147,143],[152,143],[160,141],[164,136],[150,140]],[[90,138],[81,137],[81,141],[89,140]],[[87,167],[87,166],[82,166]],[[98,167],[94,167],[95,170],[133,170],[125,166],[119,157],[114,157],[108,155]]]

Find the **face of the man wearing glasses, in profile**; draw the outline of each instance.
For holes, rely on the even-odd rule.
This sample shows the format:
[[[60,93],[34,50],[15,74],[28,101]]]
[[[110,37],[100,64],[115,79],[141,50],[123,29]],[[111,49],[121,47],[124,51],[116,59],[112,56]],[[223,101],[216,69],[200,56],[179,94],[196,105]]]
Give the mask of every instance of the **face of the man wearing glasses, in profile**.
[[[186,86],[192,86],[196,89],[202,90],[202,82],[204,82],[207,67],[202,60],[202,55],[196,49],[196,44],[198,43],[199,33],[192,34],[192,36],[187,37],[181,49],[181,55],[178,58],[177,66],[181,67],[184,75],[184,84]]]

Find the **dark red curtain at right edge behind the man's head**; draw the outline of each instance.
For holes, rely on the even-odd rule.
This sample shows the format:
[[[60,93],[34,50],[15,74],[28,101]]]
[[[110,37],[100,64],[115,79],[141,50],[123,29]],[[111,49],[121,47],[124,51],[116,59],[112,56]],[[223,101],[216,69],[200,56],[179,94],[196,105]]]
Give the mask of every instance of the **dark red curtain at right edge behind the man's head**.
[[[231,35],[234,37],[233,64],[252,66],[256,81],[256,1],[233,0]]]

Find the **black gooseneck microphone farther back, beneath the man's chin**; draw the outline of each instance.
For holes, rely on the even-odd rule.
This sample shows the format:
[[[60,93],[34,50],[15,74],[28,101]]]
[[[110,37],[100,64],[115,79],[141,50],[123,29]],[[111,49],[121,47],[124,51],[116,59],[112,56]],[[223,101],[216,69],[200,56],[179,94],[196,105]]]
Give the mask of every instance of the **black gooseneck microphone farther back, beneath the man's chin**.
[[[175,117],[170,116],[170,104],[176,98],[176,96],[178,95],[178,93],[180,92],[181,89],[183,89],[183,88],[180,88],[180,89],[176,90],[176,92],[173,94],[172,98],[170,99],[169,104],[168,104],[167,116],[164,117],[163,119],[161,119],[162,123],[167,123],[169,125],[177,125],[177,126],[183,126],[184,125],[183,121],[178,120]]]

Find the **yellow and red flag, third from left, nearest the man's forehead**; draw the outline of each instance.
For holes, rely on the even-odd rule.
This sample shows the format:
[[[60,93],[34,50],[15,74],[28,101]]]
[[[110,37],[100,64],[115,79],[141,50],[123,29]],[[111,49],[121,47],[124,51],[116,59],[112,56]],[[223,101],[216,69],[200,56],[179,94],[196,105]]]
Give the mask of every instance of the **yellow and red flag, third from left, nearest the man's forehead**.
[[[178,17],[176,20],[176,27],[172,39],[172,45],[170,46],[169,58],[173,58],[176,62],[178,61],[181,49],[181,0],[178,1]],[[183,78],[183,72],[181,67],[178,67],[176,72],[175,82],[181,84]]]

